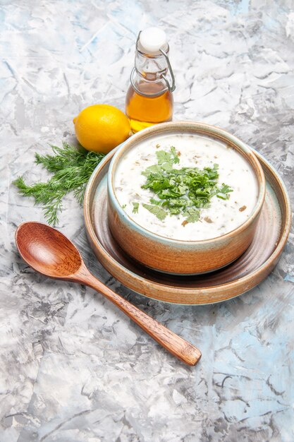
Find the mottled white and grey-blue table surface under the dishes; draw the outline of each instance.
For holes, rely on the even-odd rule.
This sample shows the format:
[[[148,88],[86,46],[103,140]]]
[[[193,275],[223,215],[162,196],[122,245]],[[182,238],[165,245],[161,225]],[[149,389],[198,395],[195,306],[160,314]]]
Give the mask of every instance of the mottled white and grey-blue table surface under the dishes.
[[[293,0],[0,1],[0,441],[293,442],[293,233],[258,287],[216,305],[130,292],[97,263],[82,208],[59,229],[93,273],[202,350],[195,367],[92,289],[37,275],[14,232],[42,209],[12,181],[74,141],[87,105],[124,109],[137,32],[164,28],[176,76],[174,119],[231,131],[276,167],[293,195]]]

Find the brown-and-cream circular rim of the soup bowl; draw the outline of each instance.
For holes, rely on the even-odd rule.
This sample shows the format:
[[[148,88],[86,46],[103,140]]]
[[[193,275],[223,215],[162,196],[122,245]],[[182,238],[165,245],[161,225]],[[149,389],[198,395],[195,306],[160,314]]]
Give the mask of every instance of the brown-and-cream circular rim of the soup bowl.
[[[114,190],[114,174],[116,171],[116,167],[118,162],[121,160],[122,155],[126,150],[131,149],[140,141],[145,141],[145,139],[154,136],[156,133],[158,135],[162,135],[164,133],[169,133],[173,131],[183,131],[183,129],[189,133],[194,132],[199,135],[210,136],[210,138],[216,138],[216,140],[229,143],[232,145],[238,152],[243,153],[243,157],[250,163],[252,169],[254,169],[255,176],[257,178],[257,183],[259,186],[259,193],[257,198],[257,203],[255,204],[255,208],[252,210],[250,217],[245,220],[242,224],[235,229],[226,232],[226,234],[219,235],[219,237],[213,237],[208,239],[197,239],[197,240],[183,240],[183,239],[174,239],[164,237],[163,235],[152,232],[145,227],[142,227],[137,222],[131,218],[128,213],[122,208],[121,204],[118,202],[116,197],[116,192]],[[196,129],[196,130],[195,130]],[[252,150],[248,147],[246,143],[240,140],[240,138],[234,136],[230,132],[221,129],[217,126],[212,126],[211,124],[206,124],[197,121],[169,121],[167,123],[156,124],[154,126],[150,126],[146,129],[142,129],[141,131],[135,133],[133,136],[130,136],[126,141],[124,141],[121,145],[118,146],[114,157],[111,159],[111,163],[109,165],[109,172],[107,174],[107,188],[108,188],[108,198],[111,199],[111,203],[114,204],[114,208],[118,215],[123,218],[124,222],[131,227],[131,229],[135,229],[135,231],[145,237],[149,237],[149,239],[153,239],[154,241],[159,241],[163,244],[173,244],[178,246],[195,246],[199,244],[200,246],[205,246],[206,244],[215,244],[216,242],[226,241],[227,239],[232,239],[236,235],[245,231],[247,227],[249,227],[252,222],[254,222],[257,215],[259,215],[262,210],[262,205],[264,203],[265,193],[266,193],[266,181],[264,177],[264,172],[262,166],[260,165],[257,157],[252,152]]]

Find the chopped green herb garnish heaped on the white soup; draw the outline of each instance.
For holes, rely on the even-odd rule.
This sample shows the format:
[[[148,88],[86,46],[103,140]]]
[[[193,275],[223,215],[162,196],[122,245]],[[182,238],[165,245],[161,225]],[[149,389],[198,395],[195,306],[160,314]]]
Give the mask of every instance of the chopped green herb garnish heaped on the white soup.
[[[200,218],[200,208],[208,208],[212,197],[223,200],[230,198],[233,191],[227,184],[218,186],[219,165],[214,167],[182,167],[173,168],[180,162],[176,149],[171,147],[169,152],[158,150],[157,165],[147,167],[142,172],[146,184],[142,189],[149,189],[156,198],[150,198],[151,204],[143,204],[149,212],[164,220],[166,215],[183,215],[187,222],[197,222]]]

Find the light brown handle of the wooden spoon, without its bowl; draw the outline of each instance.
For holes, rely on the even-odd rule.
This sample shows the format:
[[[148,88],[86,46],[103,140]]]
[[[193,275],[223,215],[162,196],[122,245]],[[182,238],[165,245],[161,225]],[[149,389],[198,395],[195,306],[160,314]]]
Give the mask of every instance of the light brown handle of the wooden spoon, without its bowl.
[[[94,277],[94,275],[88,272],[88,270],[83,270],[82,275],[80,274],[82,283],[92,287],[92,289],[97,290],[97,292],[104,294],[109,301],[118,306],[118,308],[128,315],[129,318],[133,319],[137,325],[140,325],[148,335],[159,342],[159,344],[161,344],[166,350],[169,350],[171,354],[188,365],[195,365],[199,361],[201,352],[194,347],[194,345],[185,341],[183,338],[180,338],[180,336],[148,316],[144,311],[137,309],[136,306],[130,304],[129,301],[109,289],[109,287]]]

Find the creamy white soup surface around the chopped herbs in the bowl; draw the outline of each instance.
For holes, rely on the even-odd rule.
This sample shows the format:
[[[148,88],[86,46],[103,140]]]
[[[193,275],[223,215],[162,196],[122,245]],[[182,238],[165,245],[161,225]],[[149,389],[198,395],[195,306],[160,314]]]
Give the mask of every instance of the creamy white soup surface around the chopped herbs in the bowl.
[[[218,165],[217,185],[231,188],[228,199],[212,196],[209,207],[199,209],[196,222],[188,222],[182,213],[169,212],[160,220],[143,206],[150,205],[150,199],[156,195],[150,189],[142,189],[147,181],[142,172],[158,164],[159,151],[168,153],[172,147],[179,160],[173,169],[213,169]],[[214,138],[192,134],[161,135],[136,145],[118,163],[114,189],[121,207],[138,225],[162,237],[182,241],[212,239],[231,232],[250,217],[259,192],[255,172],[243,155]]]

